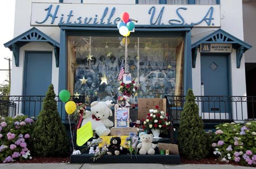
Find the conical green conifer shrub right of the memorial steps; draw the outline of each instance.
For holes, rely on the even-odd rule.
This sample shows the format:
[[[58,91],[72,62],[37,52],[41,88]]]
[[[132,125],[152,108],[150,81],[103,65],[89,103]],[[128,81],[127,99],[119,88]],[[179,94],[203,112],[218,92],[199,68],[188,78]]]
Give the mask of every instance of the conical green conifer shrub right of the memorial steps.
[[[193,91],[189,89],[179,126],[179,151],[188,159],[202,159],[208,154],[207,134],[204,131],[204,123],[199,116],[199,107],[195,99]]]

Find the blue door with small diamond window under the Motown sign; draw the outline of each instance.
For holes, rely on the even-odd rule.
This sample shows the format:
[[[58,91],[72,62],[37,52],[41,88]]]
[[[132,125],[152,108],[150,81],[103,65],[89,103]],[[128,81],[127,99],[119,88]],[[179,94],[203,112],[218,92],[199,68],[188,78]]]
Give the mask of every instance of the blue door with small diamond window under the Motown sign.
[[[213,113],[214,119],[219,116],[222,117],[221,119],[228,119],[226,116],[226,113],[230,113],[228,56],[201,56],[201,92],[205,96],[202,97],[202,112],[207,113],[203,115],[210,116],[210,113]],[[221,115],[221,113],[225,114]]]

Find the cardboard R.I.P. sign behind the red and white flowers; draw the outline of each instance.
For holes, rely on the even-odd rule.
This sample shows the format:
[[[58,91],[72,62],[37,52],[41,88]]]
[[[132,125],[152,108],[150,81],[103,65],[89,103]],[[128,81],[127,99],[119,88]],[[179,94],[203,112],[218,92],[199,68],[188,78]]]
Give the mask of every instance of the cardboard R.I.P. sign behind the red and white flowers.
[[[156,109],[158,105],[159,111],[166,112],[166,99],[160,98],[139,98],[138,99],[138,120],[146,119],[150,109]]]

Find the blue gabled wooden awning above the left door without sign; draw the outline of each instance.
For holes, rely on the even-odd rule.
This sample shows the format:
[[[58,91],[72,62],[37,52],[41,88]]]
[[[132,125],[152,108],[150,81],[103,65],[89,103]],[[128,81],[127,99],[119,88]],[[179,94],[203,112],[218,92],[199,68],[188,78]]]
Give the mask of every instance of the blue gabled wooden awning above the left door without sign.
[[[46,42],[52,45],[54,47],[56,67],[59,67],[60,44],[57,43],[57,41],[53,40],[51,37],[47,36],[42,31],[39,31],[39,29],[35,27],[29,29],[28,31],[22,33],[21,35],[15,37],[14,39],[10,40],[9,42],[3,45],[5,45],[6,48],[9,48],[11,51],[13,51],[15,65],[19,66],[19,48],[33,41]]]

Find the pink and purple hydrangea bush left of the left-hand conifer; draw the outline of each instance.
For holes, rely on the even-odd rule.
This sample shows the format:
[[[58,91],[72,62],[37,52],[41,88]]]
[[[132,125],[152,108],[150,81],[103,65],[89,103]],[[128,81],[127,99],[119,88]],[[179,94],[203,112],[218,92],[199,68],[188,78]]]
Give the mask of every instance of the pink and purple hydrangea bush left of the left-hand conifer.
[[[1,117],[0,121],[0,161],[13,162],[18,159],[31,159],[27,143],[31,136],[34,120],[22,114]]]

